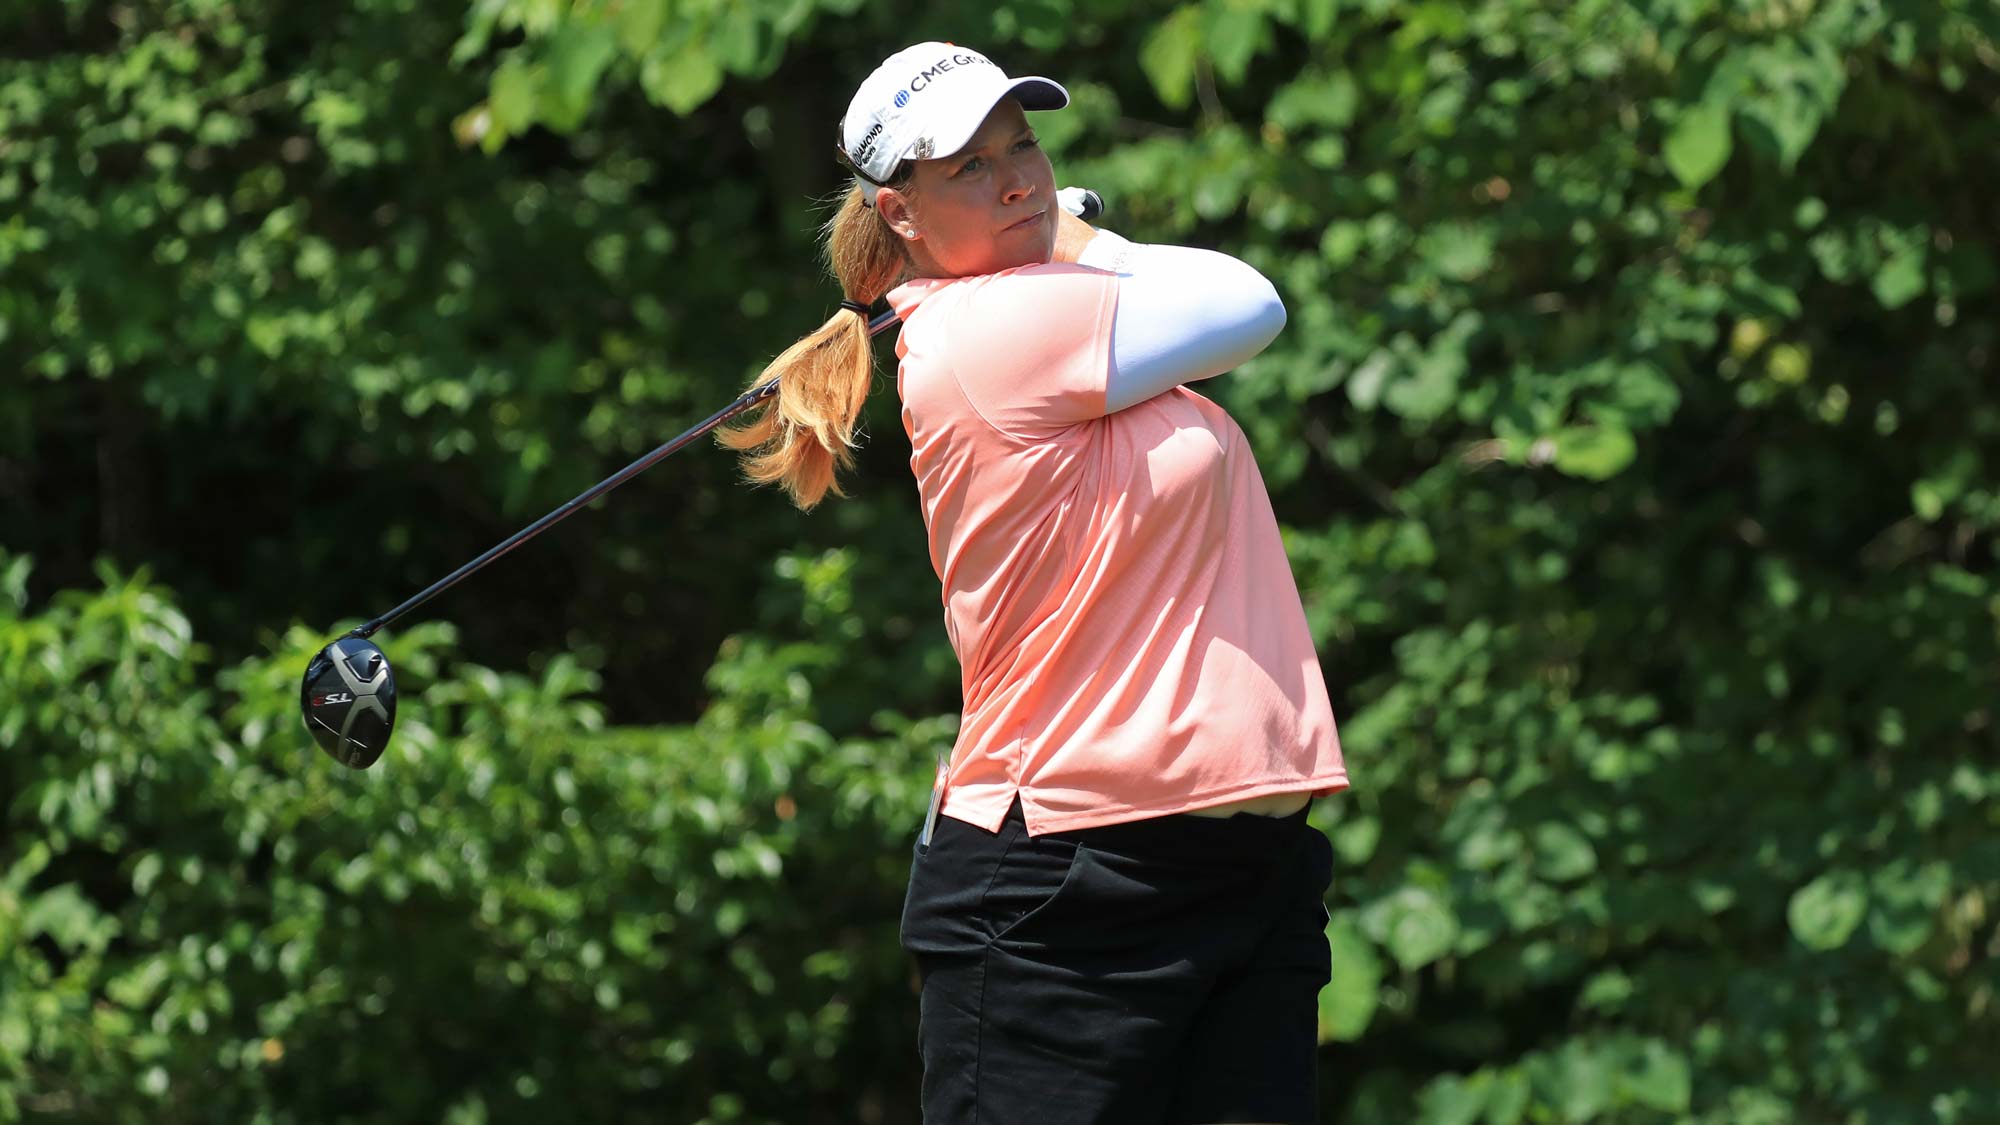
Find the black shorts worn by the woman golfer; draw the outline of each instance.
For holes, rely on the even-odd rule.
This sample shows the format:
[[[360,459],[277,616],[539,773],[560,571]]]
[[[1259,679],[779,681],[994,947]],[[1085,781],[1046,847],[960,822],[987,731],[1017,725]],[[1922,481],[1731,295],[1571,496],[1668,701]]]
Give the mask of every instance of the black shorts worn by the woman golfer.
[[[902,913],[926,1125],[1318,1121],[1332,867],[1304,811],[938,817]]]

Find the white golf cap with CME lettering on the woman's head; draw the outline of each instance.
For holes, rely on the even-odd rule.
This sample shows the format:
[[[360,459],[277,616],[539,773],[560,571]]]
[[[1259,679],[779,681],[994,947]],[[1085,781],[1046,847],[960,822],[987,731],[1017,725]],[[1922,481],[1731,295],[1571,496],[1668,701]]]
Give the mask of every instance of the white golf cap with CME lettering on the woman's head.
[[[972,140],[1000,98],[1060,110],[1070,92],[1048,78],[1008,78],[984,54],[920,42],[882,60],[840,120],[840,150],[868,180],[888,182],[904,160],[950,156]],[[870,200],[872,202],[872,200]]]

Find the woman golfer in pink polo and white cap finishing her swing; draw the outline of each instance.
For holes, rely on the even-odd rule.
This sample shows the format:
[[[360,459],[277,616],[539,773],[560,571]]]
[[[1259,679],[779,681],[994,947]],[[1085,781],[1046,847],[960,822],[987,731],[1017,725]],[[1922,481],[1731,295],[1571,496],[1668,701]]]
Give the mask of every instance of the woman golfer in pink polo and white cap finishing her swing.
[[[728,434],[800,506],[896,390],[964,675],[910,871],[924,1121],[1314,1121],[1332,709],[1242,430],[1188,382],[1284,326],[1262,274],[1056,206],[1048,78],[926,42],[862,82],[842,310]]]

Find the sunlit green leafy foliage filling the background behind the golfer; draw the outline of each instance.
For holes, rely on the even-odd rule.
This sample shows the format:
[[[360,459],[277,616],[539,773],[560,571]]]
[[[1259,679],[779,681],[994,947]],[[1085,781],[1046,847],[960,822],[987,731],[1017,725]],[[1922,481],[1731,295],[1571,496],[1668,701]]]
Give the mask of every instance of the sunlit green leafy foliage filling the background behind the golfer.
[[[0,8],[0,1119],[914,1119],[890,390],[384,635],[370,773],[294,693],[830,310],[918,38],[1290,306],[1328,1121],[2000,1119],[1992,0]]]

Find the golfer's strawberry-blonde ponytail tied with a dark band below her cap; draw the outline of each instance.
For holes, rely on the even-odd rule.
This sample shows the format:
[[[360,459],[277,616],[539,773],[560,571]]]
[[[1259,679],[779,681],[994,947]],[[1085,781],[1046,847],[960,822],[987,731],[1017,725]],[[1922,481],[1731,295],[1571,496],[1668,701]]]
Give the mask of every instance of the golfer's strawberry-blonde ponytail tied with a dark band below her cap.
[[[848,300],[872,306],[902,282],[910,256],[862,186],[848,188],[826,222],[826,264]],[[874,382],[868,316],[842,308],[786,348],[752,380],[778,380],[778,394],[750,420],[718,432],[744,454],[744,474],[756,484],[780,484],[802,510],[840,490],[838,470],[854,464],[854,424]]]

